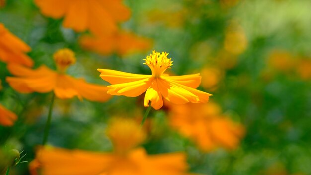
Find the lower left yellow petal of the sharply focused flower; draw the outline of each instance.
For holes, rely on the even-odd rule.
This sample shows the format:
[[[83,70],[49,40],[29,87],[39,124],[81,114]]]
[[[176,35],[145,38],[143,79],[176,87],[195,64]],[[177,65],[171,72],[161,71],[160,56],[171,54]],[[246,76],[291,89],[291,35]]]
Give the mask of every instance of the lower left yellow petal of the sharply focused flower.
[[[150,86],[150,79],[143,79],[134,82],[121,83],[107,86],[108,94],[111,95],[124,95],[128,97],[136,97],[141,95]]]

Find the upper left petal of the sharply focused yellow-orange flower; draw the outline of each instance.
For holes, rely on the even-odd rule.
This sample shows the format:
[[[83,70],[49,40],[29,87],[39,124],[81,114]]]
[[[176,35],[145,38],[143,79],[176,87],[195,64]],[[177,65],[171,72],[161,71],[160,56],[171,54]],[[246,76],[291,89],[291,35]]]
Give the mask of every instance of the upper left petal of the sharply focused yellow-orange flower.
[[[110,84],[121,84],[143,80],[151,77],[151,75],[132,74],[122,71],[115,71],[110,69],[97,69],[101,74],[99,75],[103,80]]]

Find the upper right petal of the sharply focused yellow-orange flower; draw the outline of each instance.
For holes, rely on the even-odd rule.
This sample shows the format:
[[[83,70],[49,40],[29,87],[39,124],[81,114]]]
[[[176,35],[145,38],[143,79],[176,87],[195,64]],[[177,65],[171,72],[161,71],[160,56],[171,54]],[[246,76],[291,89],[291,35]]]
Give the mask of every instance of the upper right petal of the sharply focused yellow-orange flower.
[[[201,83],[201,76],[200,74],[189,74],[189,75],[183,75],[183,76],[163,76],[163,79],[173,81],[175,83],[191,87],[191,88],[197,88],[199,87]]]

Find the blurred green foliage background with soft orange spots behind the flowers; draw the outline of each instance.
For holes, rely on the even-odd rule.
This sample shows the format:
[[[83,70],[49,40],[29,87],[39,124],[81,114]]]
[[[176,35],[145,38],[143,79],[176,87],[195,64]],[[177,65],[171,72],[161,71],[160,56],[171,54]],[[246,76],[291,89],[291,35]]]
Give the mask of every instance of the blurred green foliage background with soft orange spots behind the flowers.
[[[124,4],[131,17],[119,27],[137,38],[104,52],[83,47],[79,41],[87,31],[64,28],[62,18],[42,15],[32,0],[6,0],[0,22],[32,48],[28,55],[35,68],[44,64],[55,69],[53,53],[70,48],[77,62],[67,73],[100,85],[109,84],[101,80],[97,68],[150,74],[142,59],[152,50],[166,51],[174,61],[170,74],[201,73],[198,89],[213,94],[210,102],[244,127],[234,148],[220,145],[204,151],[169,124],[169,107],[152,109],[143,144],[149,154],[185,152],[189,171],[203,175],[311,174],[310,0],[124,0]],[[114,42],[107,39],[101,44]],[[0,103],[18,116],[13,126],[0,126],[0,145],[24,150],[24,160],[30,162],[41,144],[51,93],[20,94],[6,83],[7,76],[11,74],[6,63],[0,62]],[[112,144],[104,132],[109,119],[125,116],[140,121],[144,111],[143,95],[115,96],[105,103],[56,99],[48,143],[109,152]],[[28,164],[18,165],[11,174],[28,175]]]

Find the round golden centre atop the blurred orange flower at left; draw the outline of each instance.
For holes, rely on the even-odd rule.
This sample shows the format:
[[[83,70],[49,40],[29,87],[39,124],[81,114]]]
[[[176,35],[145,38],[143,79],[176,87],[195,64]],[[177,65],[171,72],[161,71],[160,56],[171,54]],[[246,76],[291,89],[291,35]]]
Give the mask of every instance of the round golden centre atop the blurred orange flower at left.
[[[65,73],[68,66],[76,62],[75,53],[70,49],[60,49],[53,55],[57,70]]]

